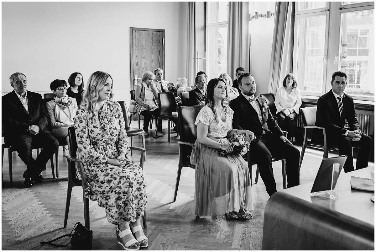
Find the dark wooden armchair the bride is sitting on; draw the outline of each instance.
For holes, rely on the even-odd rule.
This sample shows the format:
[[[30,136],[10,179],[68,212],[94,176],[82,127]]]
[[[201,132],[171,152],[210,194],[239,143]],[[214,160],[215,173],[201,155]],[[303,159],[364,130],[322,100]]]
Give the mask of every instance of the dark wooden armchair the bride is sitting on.
[[[183,106],[177,108],[180,127],[179,144],[179,166],[177,167],[174,202],[177,196],[177,188],[179,188],[180,175],[183,167],[194,169],[194,165],[190,162],[190,156],[194,142],[197,139],[197,127],[194,125],[196,117],[203,106]]]

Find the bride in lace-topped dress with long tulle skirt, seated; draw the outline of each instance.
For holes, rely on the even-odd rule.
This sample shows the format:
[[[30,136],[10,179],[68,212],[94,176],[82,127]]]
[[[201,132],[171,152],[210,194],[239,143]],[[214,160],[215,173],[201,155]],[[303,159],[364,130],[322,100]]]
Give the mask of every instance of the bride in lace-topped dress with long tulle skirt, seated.
[[[226,84],[221,78],[211,79],[207,87],[205,106],[197,115],[196,147],[191,154],[195,164],[196,215],[229,214],[229,218],[249,220],[253,215],[252,186],[247,163],[233,148],[226,136],[235,131],[252,141],[249,130],[232,128],[233,110],[223,104],[227,97]],[[221,157],[218,149],[227,154]]]

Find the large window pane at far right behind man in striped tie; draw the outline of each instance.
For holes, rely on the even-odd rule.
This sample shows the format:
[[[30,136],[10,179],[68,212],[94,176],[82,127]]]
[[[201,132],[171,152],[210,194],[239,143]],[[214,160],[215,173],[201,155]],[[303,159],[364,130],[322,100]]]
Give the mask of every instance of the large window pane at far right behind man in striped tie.
[[[374,96],[373,10],[342,14],[340,70],[347,73],[345,92]]]

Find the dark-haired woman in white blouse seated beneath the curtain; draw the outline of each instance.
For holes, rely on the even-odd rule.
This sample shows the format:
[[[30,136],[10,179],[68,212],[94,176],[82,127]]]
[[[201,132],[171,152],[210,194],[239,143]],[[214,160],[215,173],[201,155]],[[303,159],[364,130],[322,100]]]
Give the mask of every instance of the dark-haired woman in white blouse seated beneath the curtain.
[[[299,114],[302,98],[297,88],[295,76],[288,73],[283,80],[283,86],[277,89],[274,104],[277,108],[278,125],[288,131],[288,138],[295,141],[295,117]]]

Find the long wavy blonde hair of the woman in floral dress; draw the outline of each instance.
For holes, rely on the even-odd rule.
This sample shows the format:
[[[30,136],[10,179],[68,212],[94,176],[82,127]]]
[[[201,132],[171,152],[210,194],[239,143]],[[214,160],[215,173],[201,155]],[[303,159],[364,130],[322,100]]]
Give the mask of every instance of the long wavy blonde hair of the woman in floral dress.
[[[82,105],[86,106],[88,113],[92,113],[93,116],[98,114],[98,93],[105,86],[107,78],[112,79],[111,75],[106,72],[97,71],[92,73],[88,79],[85,92],[83,92]],[[113,97],[114,93],[111,92],[109,99],[112,100]]]

